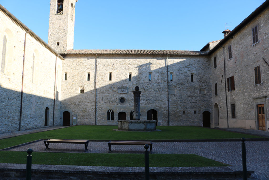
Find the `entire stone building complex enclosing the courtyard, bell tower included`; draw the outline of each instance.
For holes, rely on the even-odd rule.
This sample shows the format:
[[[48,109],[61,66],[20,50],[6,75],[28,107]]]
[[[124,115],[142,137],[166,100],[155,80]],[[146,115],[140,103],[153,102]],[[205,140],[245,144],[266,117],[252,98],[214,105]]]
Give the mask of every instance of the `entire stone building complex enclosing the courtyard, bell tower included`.
[[[117,125],[135,86],[141,120],[269,131],[268,0],[200,51],[73,50],[76,2],[51,0],[48,44],[0,6],[0,133]]]

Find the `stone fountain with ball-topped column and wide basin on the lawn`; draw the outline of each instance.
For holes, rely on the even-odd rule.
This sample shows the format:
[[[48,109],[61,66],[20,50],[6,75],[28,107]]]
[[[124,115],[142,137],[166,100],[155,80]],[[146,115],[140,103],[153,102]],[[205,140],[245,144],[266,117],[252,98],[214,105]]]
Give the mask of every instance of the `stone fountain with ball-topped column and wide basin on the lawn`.
[[[157,121],[140,120],[140,94],[139,87],[136,86],[134,95],[134,118],[133,120],[118,120],[118,130],[120,131],[156,131]]]

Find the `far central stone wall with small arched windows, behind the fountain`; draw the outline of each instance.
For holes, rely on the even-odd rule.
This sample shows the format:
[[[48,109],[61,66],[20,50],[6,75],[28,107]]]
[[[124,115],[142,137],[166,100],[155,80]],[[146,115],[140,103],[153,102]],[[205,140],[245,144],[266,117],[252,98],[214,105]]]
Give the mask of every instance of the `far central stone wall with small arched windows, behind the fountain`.
[[[169,125],[201,125],[203,111],[212,111],[209,63],[206,56],[172,56],[168,57],[167,69],[167,56],[67,55],[63,61],[61,107],[76,114],[77,124],[116,125],[119,112],[125,112],[126,119],[130,119],[132,91],[139,86],[141,120],[147,120],[147,111],[154,109],[158,113],[158,125],[168,125],[169,104]],[[109,73],[112,73],[111,81]],[[172,81],[170,73],[173,73]],[[82,88],[84,93],[80,93]],[[201,94],[200,89],[205,93]],[[125,103],[119,102],[122,97]],[[110,109],[114,111],[114,121],[107,121]]]

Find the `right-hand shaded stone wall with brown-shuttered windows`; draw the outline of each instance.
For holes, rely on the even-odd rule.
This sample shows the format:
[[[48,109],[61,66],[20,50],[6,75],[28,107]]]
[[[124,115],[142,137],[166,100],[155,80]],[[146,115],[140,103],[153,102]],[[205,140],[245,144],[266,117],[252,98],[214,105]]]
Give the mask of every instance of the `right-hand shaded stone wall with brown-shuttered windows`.
[[[269,113],[266,104],[269,94],[269,66],[263,58],[269,63],[268,55],[268,24],[269,13],[268,9],[261,13],[256,19],[248,23],[240,32],[232,39],[228,40],[224,45],[225,48],[225,70],[226,79],[224,78],[224,62],[223,49],[218,48],[214,52],[211,59],[212,69],[212,96],[213,108],[217,104],[219,108],[220,122],[217,122],[217,114],[214,117],[215,127],[227,127],[226,116],[226,100],[225,100],[225,81],[227,89],[227,78],[234,76],[235,90],[227,91],[228,103],[228,119],[229,127],[239,127],[247,129],[258,129],[257,125],[257,104],[264,104],[266,130],[268,131]],[[252,28],[258,26],[259,42],[253,45]],[[228,46],[232,45],[232,58],[228,58]],[[214,69],[214,57],[217,57],[217,68]],[[260,66],[261,81],[259,85],[255,85],[254,68]],[[218,84],[218,95],[215,96],[214,84]],[[231,104],[235,104],[236,118],[231,117]]]

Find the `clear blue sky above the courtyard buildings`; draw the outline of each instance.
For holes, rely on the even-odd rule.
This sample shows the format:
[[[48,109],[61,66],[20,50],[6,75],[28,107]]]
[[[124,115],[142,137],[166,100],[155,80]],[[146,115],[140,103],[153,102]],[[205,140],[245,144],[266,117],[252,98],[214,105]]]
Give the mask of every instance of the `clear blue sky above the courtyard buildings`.
[[[78,0],[74,49],[200,50],[265,0]],[[0,0],[48,42],[50,0]]]

